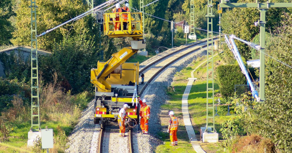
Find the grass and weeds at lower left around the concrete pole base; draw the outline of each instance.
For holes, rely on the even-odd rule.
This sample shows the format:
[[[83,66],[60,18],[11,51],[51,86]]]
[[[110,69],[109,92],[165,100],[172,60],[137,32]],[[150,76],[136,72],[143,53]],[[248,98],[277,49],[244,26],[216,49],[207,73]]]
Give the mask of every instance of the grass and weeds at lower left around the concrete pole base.
[[[50,152],[65,152],[65,149],[67,147],[65,145],[67,142],[67,137],[70,135],[74,126],[77,124],[78,117],[80,116],[81,111],[84,108],[86,108],[88,102],[90,102],[92,99],[92,94],[88,94],[88,92],[83,92],[80,94],[69,96],[70,99],[63,100],[71,101],[71,103],[68,104],[73,106],[67,109],[70,109],[70,111],[72,111],[73,114],[70,114],[70,112],[66,113],[65,110],[64,112],[60,110],[58,111],[59,113],[51,112],[50,110],[46,110],[46,108],[43,107],[43,109],[46,110],[45,112],[47,112],[47,115],[52,117],[46,119],[41,117],[41,129],[45,129],[46,126],[48,126],[48,128],[53,129],[54,148],[50,149]],[[22,113],[22,115],[24,115],[24,113],[30,114],[30,111],[19,113]],[[31,126],[30,120],[27,119],[25,121],[23,120],[6,121],[5,125],[8,131],[10,131],[8,135],[8,141],[4,142],[5,144],[32,152],[46,152],[46,150],[42,150],[40,148],[38,149],[27,148],[28,131]],[[0,153],[1,152],[19,152],[19,150],[15,150],[13,148],[0,145]]]

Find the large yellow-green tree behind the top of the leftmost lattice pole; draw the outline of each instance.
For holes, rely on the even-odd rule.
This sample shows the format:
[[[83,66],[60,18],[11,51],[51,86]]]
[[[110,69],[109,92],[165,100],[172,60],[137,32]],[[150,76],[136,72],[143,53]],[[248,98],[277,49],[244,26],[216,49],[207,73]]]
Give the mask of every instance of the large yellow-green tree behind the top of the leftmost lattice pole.
[[[88,6],[83,5],[82,0],[64,0],[64,1],[50,1],[38,0],[36,5],[37,13],[37,33],[45,32],[65,21],[84,13]],[[30,1],[21,0],[19,8],[17,9],[16,30],[13,32],[14,45],[28,45],[30,46]],[[97,25],[94,24],[91,16],[79,19],[77,21],[63,25],[62,27],[53,30],[45,36],[38,38],[39,48],[52,50],[55,43],[60,43],[62,39],[72,36],[86,35],[94,36],[97,32]],[[97,37],[95,37],[98,39]],[[95,40],[96,40],[95,39]]]

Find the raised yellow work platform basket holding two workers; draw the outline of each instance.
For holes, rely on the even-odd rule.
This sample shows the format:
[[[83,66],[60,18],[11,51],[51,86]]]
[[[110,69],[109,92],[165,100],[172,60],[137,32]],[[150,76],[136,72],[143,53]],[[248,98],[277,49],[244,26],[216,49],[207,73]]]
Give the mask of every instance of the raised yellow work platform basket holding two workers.
[[[110,38],[143,36],[141,12],[105,13],[103,14],[103,19],[103,34],[108,35]],[[124,28],[123,23],[127,23],[126,28]],[[115,29],[115,27],[117,29]]]

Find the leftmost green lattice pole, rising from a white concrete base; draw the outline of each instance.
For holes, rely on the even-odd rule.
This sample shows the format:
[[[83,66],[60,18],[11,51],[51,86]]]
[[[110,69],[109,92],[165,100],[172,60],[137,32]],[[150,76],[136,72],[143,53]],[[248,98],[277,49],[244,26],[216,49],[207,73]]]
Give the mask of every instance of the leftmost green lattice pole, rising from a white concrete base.
[[[32,131],[40,130],[39,121],[39,73],[38,73],[38,55],[36,39],[36,0],[30,1],[30,39],[31,39],[31,128]],[[33,53],[35,52],[35,56]]]

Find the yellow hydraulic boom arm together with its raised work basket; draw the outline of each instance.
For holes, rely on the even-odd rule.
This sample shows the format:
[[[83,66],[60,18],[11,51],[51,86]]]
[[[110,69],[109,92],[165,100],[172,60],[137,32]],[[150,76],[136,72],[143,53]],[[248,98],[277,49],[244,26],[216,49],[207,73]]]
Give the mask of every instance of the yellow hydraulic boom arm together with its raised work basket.
[[[122,21],[121,18],[119,21],[113,19],[116,14],[119,14],[119,16],[121,17],[123,13],[126,13],[128,15],[127,21]],[[111,84],[106,81],[107,76],[110,75],[110,73],[116,70],[119,66],[124,64],[125,61],[133,56],[139,49],[143,49],[146,47],[146,44],[143,42],[142,37],[142,14],[130,12],[123,13],[105,13],[103,15],[105,35],[108,35],[109,37],[132,37],[133,40],[131,40],[131,47],[124,47],[119,52],[112,54],[112,57],[107,62],[102,64],[101,62],[98,62],[98,68],[91,69],[91,83],[97,87],[97,92],[111,92]],[[131,16],[132,14],[135,15],[135,18],[137,19],[133,19]],[[121,25],[123,25],[123,22],[127,22],[128,29],[114,30],[113,26],[116,22],[120,22]],[[122,26],[121,29],[123,29]]]

